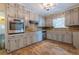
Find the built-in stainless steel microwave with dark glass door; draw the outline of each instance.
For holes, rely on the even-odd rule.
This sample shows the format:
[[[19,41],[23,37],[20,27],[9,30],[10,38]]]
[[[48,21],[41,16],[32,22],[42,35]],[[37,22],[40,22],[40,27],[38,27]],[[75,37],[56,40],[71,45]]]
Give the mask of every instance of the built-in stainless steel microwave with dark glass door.
[[[9,34],[18,34],[24,32],[24,21],[14,19],[9,22]]]

